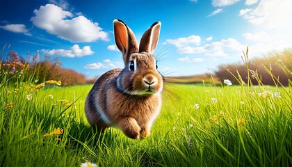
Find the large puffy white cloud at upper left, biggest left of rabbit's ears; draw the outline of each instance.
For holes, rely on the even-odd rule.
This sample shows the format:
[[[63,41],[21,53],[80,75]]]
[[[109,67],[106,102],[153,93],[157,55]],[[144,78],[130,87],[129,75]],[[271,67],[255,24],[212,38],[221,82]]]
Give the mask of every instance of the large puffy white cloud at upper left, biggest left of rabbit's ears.
[[[31,17],[33,25],[48,33],[58,35],[58,38],[70,42],[108,40],[108,34],[102,31],[97,22],[91,22],[82,15],[73,17],[72,13],[56,5],[40,6],[40,9],[35,9],[33,13],[35,13],[35,17]]]

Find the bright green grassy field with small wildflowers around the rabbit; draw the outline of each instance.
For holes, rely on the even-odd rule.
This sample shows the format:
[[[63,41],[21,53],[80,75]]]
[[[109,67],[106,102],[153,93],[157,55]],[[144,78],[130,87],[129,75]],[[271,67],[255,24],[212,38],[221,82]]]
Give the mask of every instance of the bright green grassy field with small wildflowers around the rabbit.
[[[292,165],[291,87],[165,84],[152,134],[132,140],[88,125],[92,85],[17,77],[0,87],[0,166]]]

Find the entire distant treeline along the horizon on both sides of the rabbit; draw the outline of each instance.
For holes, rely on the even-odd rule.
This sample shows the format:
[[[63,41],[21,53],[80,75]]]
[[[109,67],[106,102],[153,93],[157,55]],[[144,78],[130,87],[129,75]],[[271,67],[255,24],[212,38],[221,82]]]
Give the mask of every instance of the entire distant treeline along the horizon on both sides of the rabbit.
[[[4,54],[3,49],[0,56],[0,71],[10,73],[10,82],[15,81],[17,77],[13,76],[24,69],[28,73],[27,79],[34,79],[35,84],[55,80],[62,81],[62,84],[65,86],[71,86],[75,84],[93,84],[97,80],[97,77],[87,79],[84,74],[61,67],[62,63],[58,60],[58,57],[51,59],[49,56],[44,56],[42,60],[39,60],[38,53],[32,56],[28,53],[26,58],[24,58],[15,51],[9,51],[8,54]],[[261,58],[252,58],[248,63],[220,65],[213,75],[201,74],[189,77],[165,77],[165,81],[173,83],[202,83],[204,80],[204,83],[207,84],[220,84],[220,81],[229,79],[232,81],[232,84],[239,84],[237,80],[239,76],[247,83],[248,72],[254,85],[259,83],[266,85],[281,83],[284,86],[288,86],[289,81],[291,82],[292,80],[292,51],[285,50]],[[271,77],[271,75],[275,78]],[[3,74],[0,74],[0,81],[3,76]]]

